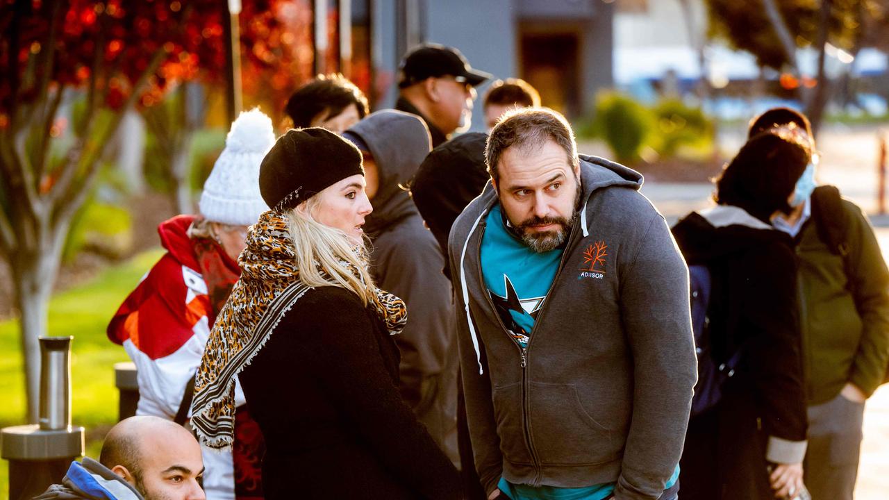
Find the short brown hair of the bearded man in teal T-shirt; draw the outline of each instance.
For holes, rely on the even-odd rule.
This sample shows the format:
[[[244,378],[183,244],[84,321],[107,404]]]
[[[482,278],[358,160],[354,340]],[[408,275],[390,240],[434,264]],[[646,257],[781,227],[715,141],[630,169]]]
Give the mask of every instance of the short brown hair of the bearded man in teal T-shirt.
[[[577,157],[577,142],[568,120],[549,108],[511,109],[494,125],[485,147],[485,162],[494,182],[503,151],[513,146],[520,149],[540,148],[546,141],[554,141],[562,149],[573,168],[581,164]]]

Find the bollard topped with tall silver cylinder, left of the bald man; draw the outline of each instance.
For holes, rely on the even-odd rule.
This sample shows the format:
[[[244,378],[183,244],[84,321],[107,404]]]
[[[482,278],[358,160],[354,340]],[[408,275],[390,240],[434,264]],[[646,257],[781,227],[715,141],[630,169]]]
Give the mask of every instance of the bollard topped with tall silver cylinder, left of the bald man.
[[[71,426],[71,341],[40,337],[38,424],[6,427],[0,456],[9,460],[9,498],[25,500],[59,482],[84,456],[84,428]]]

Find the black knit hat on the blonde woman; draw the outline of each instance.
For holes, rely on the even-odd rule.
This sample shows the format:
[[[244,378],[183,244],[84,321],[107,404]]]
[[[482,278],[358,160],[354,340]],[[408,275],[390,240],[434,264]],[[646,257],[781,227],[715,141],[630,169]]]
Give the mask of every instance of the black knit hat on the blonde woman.
[[[351,142],[323,128],[291,129],[262,160],[260,192],[268,206],[284,212],[356,174],[364,175],[364,166]]]

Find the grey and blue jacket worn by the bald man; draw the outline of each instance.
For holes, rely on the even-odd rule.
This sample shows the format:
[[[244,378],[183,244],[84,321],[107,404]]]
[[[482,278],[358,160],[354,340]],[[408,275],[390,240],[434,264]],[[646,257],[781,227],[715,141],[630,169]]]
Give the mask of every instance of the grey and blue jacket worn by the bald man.
[[[110,493],[108,496],[106,492]],[[72,462],[61,484],[54,484],[34,500],[143,500],[135,488],[104,465],[84,456]]]

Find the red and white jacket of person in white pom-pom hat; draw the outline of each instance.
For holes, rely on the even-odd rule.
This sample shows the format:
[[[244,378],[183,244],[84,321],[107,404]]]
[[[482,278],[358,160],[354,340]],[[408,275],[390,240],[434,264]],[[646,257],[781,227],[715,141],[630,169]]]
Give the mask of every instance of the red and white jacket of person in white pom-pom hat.
[[[108,324],[108,338],[124,346],[138,369],[136,415],[173,419],[210,336],[215,317],[188,238],[188,227],[194,219],[192,215],[178,215],[158,226],[167,253],[142,278]],[[244,404],[238,384],[236,404]],[[207,499],[234,499],[231,453],[205,448],[203,456]]]

